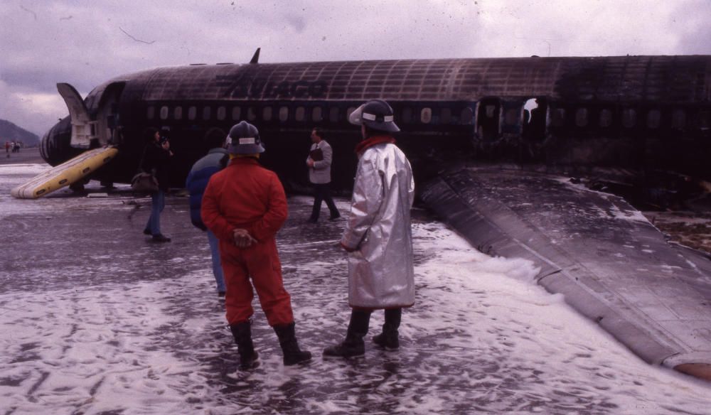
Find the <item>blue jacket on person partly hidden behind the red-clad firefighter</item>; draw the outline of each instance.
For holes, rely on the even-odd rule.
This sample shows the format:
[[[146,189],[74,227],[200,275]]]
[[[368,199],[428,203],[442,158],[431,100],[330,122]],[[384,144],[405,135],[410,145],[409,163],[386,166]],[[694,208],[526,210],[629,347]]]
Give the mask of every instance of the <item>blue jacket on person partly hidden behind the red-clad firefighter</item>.
[[[225,149],[211,149],[207,156],[201,158],[193,164],[185,187],[190,192],[190,220],[193,225],[201,230],[208,230],[200,216],[203,204],[203,193],[208,187],[210,177],[227,166],[229,161],[228,152]]]

